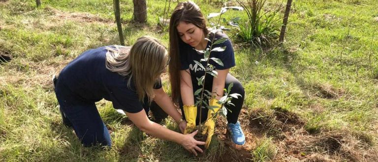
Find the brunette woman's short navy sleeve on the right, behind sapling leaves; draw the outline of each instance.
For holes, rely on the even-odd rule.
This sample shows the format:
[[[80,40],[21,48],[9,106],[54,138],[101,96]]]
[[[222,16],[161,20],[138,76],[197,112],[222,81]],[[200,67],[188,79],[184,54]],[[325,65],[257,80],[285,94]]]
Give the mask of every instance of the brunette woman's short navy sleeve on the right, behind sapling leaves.
[[[222,52],[217,53],[215,56],[219,59],[221,59],[223,66],[219,65],[218,63],[215,63],[215,68],[218,70],[224,70],[229,69],[231,67],[235,66],[235,55],[234,50],[232,48],[232,44],[229,38],[220,46],[217,47],[226,47],[226,49]]]

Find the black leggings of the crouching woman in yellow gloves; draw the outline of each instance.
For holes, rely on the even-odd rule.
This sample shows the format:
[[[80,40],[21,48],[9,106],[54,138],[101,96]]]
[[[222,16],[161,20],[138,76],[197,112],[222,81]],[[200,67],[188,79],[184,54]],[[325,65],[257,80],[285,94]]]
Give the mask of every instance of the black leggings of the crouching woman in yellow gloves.
[[[232,86],[231,92],[229,92],[229,94],[238,93],[238,94],[242,95],[242,97],[238,97],[237,99],[233,98],[231,100],[231,103],[234,104],[235,106],[232,106],[232,105],[226,106],[226,108],[228,108],[228,109],[230,109],[232,111],[232,112],[230,112],[227,109],[227,121],[229,123],[235,124],[238,121],[240,110],[243,107],[243,102],[244,102],[244,87],[242,86],[242,83],[240,81],[238,81],[235,77],[233,77],[231,74],[227,74],[224,88],[227,88],[228,85],[230,85],[231,82],[234,83],[234,85]],[[193,87],[194,87],[194,85],[193,85]],[[195,90],[196,89],[193,89],[193,93],[195,92]],[[212,86],[210,86],[210,89],[207,89],[207,90],[211,91],[212,90]],[[205,99],[205,100],[207,100],[207,99]],[[197,102],[196,98],[194,98],[194,103],[196,103],[196,102]],[[180,99],[179,105],[180,105],[180,108],[181,108],[181,112],[182,112],[183,118],[185,119],[183,102],[182,102],[181,99]],[[196,125],[198,125],[198,123],[199,123],[199,110],[200,109],[201,108],[199,108],[199,107],[197,108]],[[207,108],[202,108],[202,119],[201,119],[202,122],[206,120],[206,118],[207,118],[207,112],[208,112]]]

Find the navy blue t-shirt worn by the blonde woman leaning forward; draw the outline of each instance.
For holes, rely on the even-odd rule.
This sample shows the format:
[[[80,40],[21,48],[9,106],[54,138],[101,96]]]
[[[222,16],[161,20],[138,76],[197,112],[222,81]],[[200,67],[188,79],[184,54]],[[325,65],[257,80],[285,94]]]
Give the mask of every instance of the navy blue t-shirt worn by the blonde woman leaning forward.
[[[108,46],[114,48],[113,46]],[[111,101],[116,109],[135,113],[143,109],[133,81],[106,68],[106,47],[92,49],[79,55],[60,73],[56,93],[59,103],[86,105],[101,99]],[[161,88],[161,82],[154,86]]]

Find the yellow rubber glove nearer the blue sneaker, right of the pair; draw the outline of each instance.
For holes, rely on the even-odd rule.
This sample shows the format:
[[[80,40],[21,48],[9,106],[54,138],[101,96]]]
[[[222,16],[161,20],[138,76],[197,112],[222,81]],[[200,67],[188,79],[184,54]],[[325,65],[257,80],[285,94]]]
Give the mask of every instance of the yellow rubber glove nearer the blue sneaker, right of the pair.
[[[217,103],[217,99],[210,100],[209,106],[217,106],[218,108],[214,108],[213,110],[209,109],[207,112],[207,121],[204,124],[204,128],[202,130],[202,135],[205,135],[207,133],[207,139],[206,139],[206,148],[209,148],[211,137],[214,135],[214,129],[215,129],[215,120],[212,118],[212,116],[219,111],[221,108],[221,104]]]

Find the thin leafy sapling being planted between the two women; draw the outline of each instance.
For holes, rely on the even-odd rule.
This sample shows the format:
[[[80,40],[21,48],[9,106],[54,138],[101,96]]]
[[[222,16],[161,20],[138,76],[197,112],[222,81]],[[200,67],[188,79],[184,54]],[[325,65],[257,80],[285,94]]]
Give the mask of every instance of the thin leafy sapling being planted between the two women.
[[[199,67],[201,67],[202,69],[205,70],[205,75],[202,76],[201,78],[197,78],[198,85],[202,85],[202,88],[199,88],[199,89],[197,89],[194,92],[194,96],[196,96],[196,99],[197,99],[197,102],[195,103],[195,106],[196,107],[199,106],[200,108],[208,108],[208,109],[211,109],[213,111],[214,111],[214,108],[218,108],[218,107],[216,107],[216,106],[209,106],[207,104],[207,102],[204,100],[204,97],[206,97],[208,99],[208,101],[210,101],[211,99],[214,99],[215,96],[213,95],[214,94],[213,92],[205,90],[205,82],[204,81],[206,79],[206,75],[208,75],[208,74],[214,76],[215,78],[218,77],[218,72],[215,71],[215,70],[212,70],[213,69],[212,68],[213,65],[209,64],[210,60],[213,60],[217,64],[223,66],[223,63],[222,63],[221,59],[215,58],[215,57],[210,57],[210,54],[211,54],[211,52],[222,52],[222,51],[224,51],[226,49],[226,47],[216,47],[216,48],[213,48],[214,45],[221,44],[221,43],[223,43],[223,42],[225,42],[227,40],[227,38],[224,38],[224,37],[222,37],[220,39],[216,39],[215,38],[215,34],[217,32],[219,32],[219,31],[221,31],[221,29],[218,28],[218,26],[220,24],[220,21],[221,21],[221,15],[223,13],[225,13],[226,11],[227,11],[226,8],[222,8],[220,13],[211,13],[208,16],[209,19],[213,18],[213,17],[216,17],[216,16],[219,16],[219,19],[218,19],[218,23],[216,25],[213,24],[214,27],[213,27],[213,29],[208,34],[208,38],[210,38],[213,35],[212,36],[212,40],[210,40],[208,38],[205,38],[207,41],[209,41],[211,43],[210,48],[207,48],[206,50],[196,50],[197,52],[204,54],[204,58],[201,59],[200,62],[206,62],[206,67],[203,66],[200,62],[194,60],[195,64],[197,64]],[[218,104],[221,105],[221,109],[218,112],[214,113],[214,115],[212,116],[212,118],[217,118],[217,116],[219,114],[221,114],[222,116],[226,117],[226,115],[227,115],[227,108],[225,106],[226,105],[233,105],[231,103],[232,98],[238,98],[238,96],[241,96],[240,94],[237,94],[237,93],[229,94],[229,92],[231,91],[232,86],[233,86],[233,83],[231,83],[228,86],[227,89],[224,89],[224,96],[221,97],[221,99],[218,102]],[[202,131],[201,119],[202,119],[202,111],[199,111],[199,123],[200,124],[199,124],[198,130],[200,132]]]

